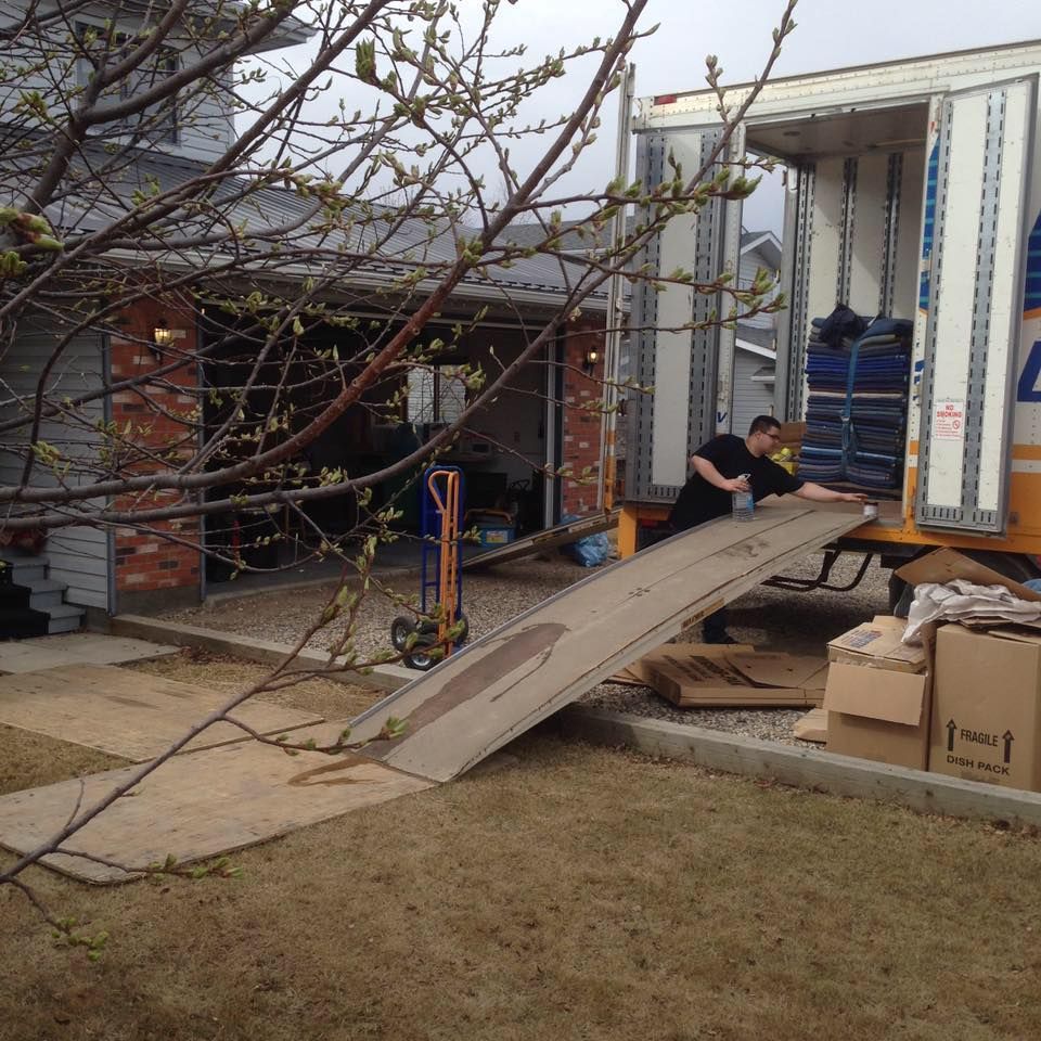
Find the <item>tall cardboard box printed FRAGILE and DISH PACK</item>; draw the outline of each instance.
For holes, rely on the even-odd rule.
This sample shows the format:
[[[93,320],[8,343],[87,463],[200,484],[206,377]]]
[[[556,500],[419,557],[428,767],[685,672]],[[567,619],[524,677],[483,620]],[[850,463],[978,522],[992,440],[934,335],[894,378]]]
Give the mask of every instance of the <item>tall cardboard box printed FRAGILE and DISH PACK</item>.
[[[1041,637],[943,626],[929,769],[1041,792]]]

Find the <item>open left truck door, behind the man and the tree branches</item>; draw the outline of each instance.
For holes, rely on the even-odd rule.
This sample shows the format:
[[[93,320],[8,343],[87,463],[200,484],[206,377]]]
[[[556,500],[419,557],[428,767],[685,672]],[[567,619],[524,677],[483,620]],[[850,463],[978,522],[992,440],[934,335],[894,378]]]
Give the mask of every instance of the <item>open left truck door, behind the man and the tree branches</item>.
[[[719,147],[722,127],[641,132],[637,176],[646,187],[674,177],[673,164],[690,180]],[[735,128],[727,154],[718,162],[744,158],[744,128]],[[718,167],[717,167],[718,168]],[[707,177],[711,177],[711,171]],[[650,219],[638,213],[641,223]],[[699,283],[711,282],[724,270],[737,277],[741,248],[741,208],[712,200],[697,215],[673,217],[652,241],[638,264],[652,274],[668,278],[678,268],[692,271]],[[719,432],[730,430],[736,333],[709,322],[730,312],[729,297],[703,295],[690,285],[669,283],[655,292],[645,281],[633,288],[632,326],[637,331],[634,373],[654,394],[630,401],[626,497],[642,502],[672,502],[686,481],[694,450]],[[744,433],[744,432],[741,432]]]

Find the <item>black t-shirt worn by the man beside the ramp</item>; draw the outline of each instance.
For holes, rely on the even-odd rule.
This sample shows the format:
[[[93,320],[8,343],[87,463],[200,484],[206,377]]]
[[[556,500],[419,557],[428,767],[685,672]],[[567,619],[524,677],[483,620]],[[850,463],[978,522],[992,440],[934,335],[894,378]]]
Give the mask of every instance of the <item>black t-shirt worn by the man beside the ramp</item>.
[[[798,491],[804,481],[794,477],[772,459],[761,455],[756,459],[748,451],[742,437],[721,434],[703,445],[695,453],[707,459],[725,478],[749,474],[753,498],[758,502],[767,496],[783,496]],[[706,520],[723,517],[731,511],[732,497],[729,491],[710,485],[695,473],[683,486],[669,514],[669,524],[677,531],[685,531]]]

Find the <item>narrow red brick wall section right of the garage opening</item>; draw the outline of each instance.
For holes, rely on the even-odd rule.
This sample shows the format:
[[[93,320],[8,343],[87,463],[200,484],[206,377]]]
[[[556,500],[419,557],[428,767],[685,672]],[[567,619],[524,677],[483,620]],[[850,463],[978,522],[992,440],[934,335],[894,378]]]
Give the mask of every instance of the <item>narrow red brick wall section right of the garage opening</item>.
[[[584,374],[587,352],[595,349],[592,374]],[[604,374],[604,330],[569,325],[564,340],[564,446],[563,463],[575,477],[564,478],[564,512],[583,516],[595,513],[600,494],[600,430],[603,412],[596,402],[603,398],[600,381]],[[591,481],[576,479],[590,467]]]

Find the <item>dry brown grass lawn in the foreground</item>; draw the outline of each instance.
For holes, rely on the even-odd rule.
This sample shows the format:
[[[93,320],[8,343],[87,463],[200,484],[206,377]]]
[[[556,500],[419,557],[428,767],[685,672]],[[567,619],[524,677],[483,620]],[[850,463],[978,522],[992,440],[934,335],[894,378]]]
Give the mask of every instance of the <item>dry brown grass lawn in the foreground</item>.
[[[90,963],[0,892],[0,1039],[1041,1037],[1033,835],[548,733],[511,751],[243,851],[237,881],[34,872],[112,940]]]

